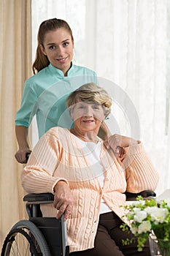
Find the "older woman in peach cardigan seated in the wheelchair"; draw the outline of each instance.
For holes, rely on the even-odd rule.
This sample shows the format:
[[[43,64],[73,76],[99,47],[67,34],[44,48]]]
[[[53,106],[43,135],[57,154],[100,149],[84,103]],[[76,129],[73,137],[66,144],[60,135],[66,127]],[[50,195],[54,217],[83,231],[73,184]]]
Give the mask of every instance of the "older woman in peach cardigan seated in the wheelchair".
[[[66,100],[73,129],[53,127],[40,138],[23,169],[26,192],[52,192],[53,205],[43,215],[67,222],[70,255],[150,255],[149,246],[137,252],[136,244],[122,245],[131,234],[120,229],[126,190],[155,189],[155,172],[142,143],[112,135],[107,144],[98,129],[109,115],[107,91],[88,83]]]

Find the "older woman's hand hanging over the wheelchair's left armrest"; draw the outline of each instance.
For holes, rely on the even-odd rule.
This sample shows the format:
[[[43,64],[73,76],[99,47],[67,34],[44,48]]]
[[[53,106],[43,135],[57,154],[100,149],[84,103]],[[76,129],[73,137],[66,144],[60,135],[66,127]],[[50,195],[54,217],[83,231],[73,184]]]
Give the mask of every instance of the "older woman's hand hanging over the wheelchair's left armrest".
[[[56,218],[59,219],[64,214],[63,220],[66,220],[72,214],[72,206],[74,204],[72,191],[65,181],[58,181],[54,191],[54,207],[58,209]]]

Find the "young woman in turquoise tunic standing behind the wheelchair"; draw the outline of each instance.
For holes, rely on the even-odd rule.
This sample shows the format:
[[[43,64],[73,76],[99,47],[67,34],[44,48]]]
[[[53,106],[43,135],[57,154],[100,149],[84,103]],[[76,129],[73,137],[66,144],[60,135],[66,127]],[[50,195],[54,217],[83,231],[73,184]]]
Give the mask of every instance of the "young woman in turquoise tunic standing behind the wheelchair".
[[[15,158],[26,163],[28,127],[36,115],[39,138],[55,126],[70,127],[65,99],[84,83],[96,82],[96,73],[72,63],[74,38],[65,20],[53,18],[39,26],[34,75],[26,80],[20,110],[16,114],[19,150]]]

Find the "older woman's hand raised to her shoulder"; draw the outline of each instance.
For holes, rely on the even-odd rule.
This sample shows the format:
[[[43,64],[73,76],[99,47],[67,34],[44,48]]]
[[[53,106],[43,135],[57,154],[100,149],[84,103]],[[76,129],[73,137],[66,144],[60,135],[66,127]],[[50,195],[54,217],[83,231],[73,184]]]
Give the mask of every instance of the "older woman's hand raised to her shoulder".
[[[137,143],[137,140],[117,134],[110,136],[109,139],[104,142],[108,149],[112,148],[117,157],[123,157],[123,154],[125,154],[125,148]]]

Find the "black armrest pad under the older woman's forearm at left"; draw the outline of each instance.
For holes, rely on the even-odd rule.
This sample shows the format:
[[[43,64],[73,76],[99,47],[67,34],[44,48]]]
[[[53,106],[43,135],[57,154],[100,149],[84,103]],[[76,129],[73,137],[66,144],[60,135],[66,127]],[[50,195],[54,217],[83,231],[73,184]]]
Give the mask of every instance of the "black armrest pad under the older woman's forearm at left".
[[[53,201],[54,200],[54,195],[51,193],[32,193],[25,195],[23,197],[23,201],[26,202],[41,202],[41,201]]]

